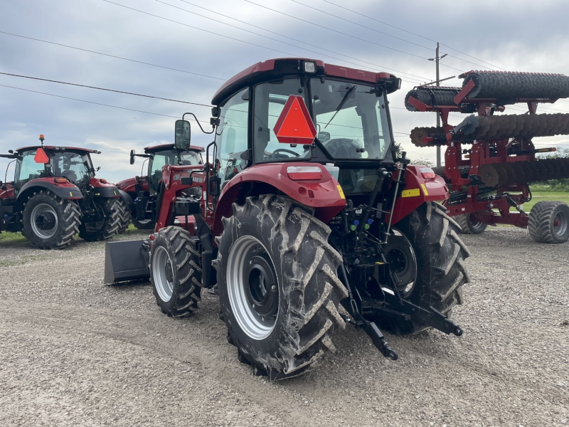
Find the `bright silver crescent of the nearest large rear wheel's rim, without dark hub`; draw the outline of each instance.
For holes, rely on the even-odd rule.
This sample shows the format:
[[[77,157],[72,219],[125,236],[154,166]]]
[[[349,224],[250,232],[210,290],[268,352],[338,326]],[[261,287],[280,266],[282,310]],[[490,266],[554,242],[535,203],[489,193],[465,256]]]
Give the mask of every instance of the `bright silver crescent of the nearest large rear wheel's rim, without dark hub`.
[[[245,294],[245,287],[250,286],[245,278],[245,267],[248,259],[259,253],[268,254],[265,246],[252,236],[242,236],[231,246],[227,262],[227,289],[233,315],[241,330],[257,341],[267,338],[277,325],[277,316],[265,318],[259,315]]]

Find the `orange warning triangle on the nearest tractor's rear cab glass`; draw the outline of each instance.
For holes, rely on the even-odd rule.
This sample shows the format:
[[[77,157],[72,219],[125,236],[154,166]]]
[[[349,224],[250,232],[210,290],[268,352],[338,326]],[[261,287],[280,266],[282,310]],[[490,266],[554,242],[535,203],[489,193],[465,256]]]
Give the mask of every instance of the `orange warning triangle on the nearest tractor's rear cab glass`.
[[[273,131],[283,144],[312,144],[316,127],[302,96],[289,96]]]

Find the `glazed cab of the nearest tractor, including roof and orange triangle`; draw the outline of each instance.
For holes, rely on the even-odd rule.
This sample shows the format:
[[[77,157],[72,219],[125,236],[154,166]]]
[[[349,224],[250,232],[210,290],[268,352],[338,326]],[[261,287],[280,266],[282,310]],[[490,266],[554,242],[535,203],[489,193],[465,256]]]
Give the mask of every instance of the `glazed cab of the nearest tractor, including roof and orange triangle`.
[[[386,97],[399,86],[388,73],[324,68],[314,60],[267,60],[244,70],[212,101],[219,105],[215,169],[221,186],[248,166],[311,162],[336,165],[329,169],[349,194],[370,193],[378,162],[393,163]]]

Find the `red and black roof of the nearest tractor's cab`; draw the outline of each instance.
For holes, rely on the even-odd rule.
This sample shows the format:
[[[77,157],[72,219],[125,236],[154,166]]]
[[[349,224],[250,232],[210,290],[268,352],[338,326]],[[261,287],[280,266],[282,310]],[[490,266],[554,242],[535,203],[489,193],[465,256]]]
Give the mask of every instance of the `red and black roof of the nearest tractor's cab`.
[[[331,77],[348,78],[368,83],[376,83],[378,79],[389,79],[395,76],[390,73],[376,73],[374,71],[357,70],[356,68],[342,67],[340,65],[326,64],[321,60],[309,58],[276,58],[258,62],[249,68],[234,75],[223,83],[211,103],[220,105],[228,96],[233,95],[241,88],[262,81],[274,80],[283,75],[307,75],[302,71],[302,64],[306,61],[316,63],[316,73],[312,75],[329,75]]]

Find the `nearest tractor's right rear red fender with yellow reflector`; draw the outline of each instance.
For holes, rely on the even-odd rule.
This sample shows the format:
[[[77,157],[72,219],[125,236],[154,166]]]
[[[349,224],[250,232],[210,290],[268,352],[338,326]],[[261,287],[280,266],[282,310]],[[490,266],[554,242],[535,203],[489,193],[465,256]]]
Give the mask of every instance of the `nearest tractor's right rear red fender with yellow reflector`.
[[[409,164],[405,169],[405,185],[400,186],[397,201],[393,211],[392,224],[398,223],[405,216],[415,211],[425,201],[445,201],[449,198],[449,189],[441,176],[424,178],[420,169],[425,169],[420,164]],[[395,179],[395,177],[394,177]],[[386,221],[389,221],[389,214]]]

